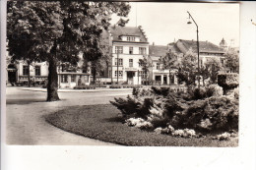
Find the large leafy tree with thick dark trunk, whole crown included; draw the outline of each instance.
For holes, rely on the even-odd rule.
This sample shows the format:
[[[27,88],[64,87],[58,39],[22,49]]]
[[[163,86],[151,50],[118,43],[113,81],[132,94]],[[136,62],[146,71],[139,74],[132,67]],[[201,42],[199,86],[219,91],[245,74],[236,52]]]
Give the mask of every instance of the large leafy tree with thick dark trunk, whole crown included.
[[[99,36],[111,15],[126,17],[129,11],[125,2],[8,1],[8,49],[17,60],[46,61],[47,101],[59,100],[57,63],[76,65],[81,51],[96,61]]]

